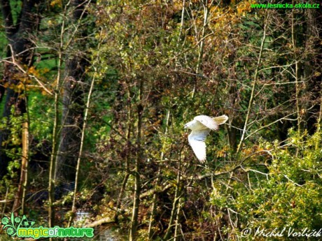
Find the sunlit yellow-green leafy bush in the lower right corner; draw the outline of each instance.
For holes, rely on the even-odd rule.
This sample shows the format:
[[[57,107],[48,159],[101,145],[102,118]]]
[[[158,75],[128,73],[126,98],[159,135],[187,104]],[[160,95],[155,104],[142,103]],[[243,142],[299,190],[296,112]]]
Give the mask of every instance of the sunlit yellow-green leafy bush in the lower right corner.
[[[322,153],[316,141],[321,142],[321,133],[299,136],[290,130],[283,146],[269,149],[264,172],[256,173],[245,164],[248,184],[234,181],[228,193],[219,186],[209,201],[222,210],[237,212],[241,228],[320,228]]]

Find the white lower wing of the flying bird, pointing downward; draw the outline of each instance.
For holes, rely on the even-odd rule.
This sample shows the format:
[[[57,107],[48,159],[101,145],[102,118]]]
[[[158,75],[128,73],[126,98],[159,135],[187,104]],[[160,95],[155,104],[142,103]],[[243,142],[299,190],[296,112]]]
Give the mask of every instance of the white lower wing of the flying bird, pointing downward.
[[[197,159],[201,162],[206,160],[206,143],[204,143],[204,140],[206,140],[209,132],[209,129],[192,131],[188,136],[189,144],[193,148]]]

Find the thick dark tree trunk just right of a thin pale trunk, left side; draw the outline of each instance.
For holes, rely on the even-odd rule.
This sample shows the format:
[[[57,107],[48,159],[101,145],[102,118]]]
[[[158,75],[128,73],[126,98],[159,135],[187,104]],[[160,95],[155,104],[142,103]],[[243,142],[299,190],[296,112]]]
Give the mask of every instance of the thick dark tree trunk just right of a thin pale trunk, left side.
[[[71,1],[73,8],[72,24],[76,30],[69,34],[66,48],[73,52],[78,49],[73,57],[66,56],[66,68],[64,74],[64,92],[62,93],[62,131],[57,156],[55,178],[61,182],[73,182],[75,180],[76,162],[80,150],[81,129],[85,103],[83,100],[83,83],[85,82],[85,68],[88,61],[85,57],[86,28],[80,25],[80,20],[86,17],[86,6],[90,3],[83,0]],[[77,39],[77,41],[76,41]]]

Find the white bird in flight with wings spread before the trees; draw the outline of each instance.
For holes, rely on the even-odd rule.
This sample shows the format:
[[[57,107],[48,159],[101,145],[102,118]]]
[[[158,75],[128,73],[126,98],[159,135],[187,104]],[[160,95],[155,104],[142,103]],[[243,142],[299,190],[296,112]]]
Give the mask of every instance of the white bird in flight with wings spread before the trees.
[[[191,122],[185,124],[185,129],[190,129],[191,133],[188,136],[190,146],[201,162],[206,160],[206,140],[211,130],[217,131],[219,125],[227,122],[228,116],[221,115],[220,117],[209,117],[207,115],[197,115]]]

